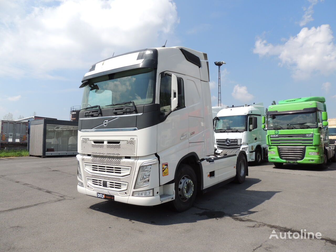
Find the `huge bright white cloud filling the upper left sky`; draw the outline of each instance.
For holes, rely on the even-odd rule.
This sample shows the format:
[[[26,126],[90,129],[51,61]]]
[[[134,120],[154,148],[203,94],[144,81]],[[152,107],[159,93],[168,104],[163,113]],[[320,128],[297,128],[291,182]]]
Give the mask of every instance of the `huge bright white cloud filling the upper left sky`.
[[[172,0],[4,3],[0,76],[18,78],[55,78],[54,70],[89,68],[113,52],[161,46],[179,22]]]

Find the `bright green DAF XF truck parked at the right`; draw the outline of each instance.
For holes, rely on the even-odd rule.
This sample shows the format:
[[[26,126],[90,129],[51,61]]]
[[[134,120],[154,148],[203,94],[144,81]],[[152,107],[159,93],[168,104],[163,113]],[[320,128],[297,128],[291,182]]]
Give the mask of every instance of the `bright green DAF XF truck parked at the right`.
[[[268,107],[262,128],[267,130],[269,162],[277,168],[284,163],[323,168],[328,161],[336,162],[336,145],[329,144],[325,101],[324,97],[303,97]]]

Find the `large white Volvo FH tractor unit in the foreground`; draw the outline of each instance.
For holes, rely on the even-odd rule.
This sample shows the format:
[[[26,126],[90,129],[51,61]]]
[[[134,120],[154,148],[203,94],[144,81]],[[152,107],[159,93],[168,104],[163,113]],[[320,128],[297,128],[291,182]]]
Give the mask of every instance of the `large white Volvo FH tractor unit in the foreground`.
[[[94,64],[80,87],[78,192],[184,211],[197,192],[248,175],[244,151],[214,153],[205,53],[125,53]]]

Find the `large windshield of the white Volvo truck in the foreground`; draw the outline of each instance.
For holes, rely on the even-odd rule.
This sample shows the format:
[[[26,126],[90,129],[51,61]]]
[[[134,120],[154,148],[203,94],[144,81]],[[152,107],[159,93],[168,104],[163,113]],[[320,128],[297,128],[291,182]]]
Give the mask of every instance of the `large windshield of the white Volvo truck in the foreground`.
[[[154,102],[155,70],[133,69],[99,76],[84,87],[82,109],[99,105],[101,109],[114,104],[134,101],[135,105]],[[91,90],[92,89],[92,90]]]

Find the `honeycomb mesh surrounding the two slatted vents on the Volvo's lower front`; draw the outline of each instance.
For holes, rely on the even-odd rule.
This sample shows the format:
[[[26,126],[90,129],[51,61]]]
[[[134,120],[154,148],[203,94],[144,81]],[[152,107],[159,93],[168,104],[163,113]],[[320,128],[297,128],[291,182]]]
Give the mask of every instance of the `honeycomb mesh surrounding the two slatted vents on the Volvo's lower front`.
[[[125,159],[124,157],[109,157],[109,156],[96,156],[93,155],[89,158],[82,158],[82,167],[85,167],[85,165],[92,165],[92,164],[99,164],[99,165],[109,165],[109,166],[114,166],[114,165],[119,165],[119,166],[125,166],[125,167],[130,167],[130,174],[127,176],[123,177],[116,177],[116,176],[111,176],[109,173],[104,174],[91,174],[89,173],[86,169],[83,170],[83,175],[84,175],[84,183],[85,186],[93,191],[96,192],[101,192],[101,193],[107,193],[113,194],[113,195],[120,195],[120,196],[129,196],[130,195],[130,190],[131,190],[131,185],[132,185],[132,180],[134,176],[134,170],[135,170],[135,164],[136,164],[136,159]],[[98,179],[98,180],[106,180],[109,182],[120,182],[120,183],[128,183],[128,186],[125,188],[123,191],[117,191],[114,190],[113,188],[104,188],[100,187],[99,185],[96,185],[93,187],[88,183],[88,179]]]

